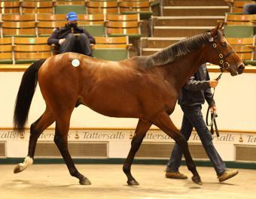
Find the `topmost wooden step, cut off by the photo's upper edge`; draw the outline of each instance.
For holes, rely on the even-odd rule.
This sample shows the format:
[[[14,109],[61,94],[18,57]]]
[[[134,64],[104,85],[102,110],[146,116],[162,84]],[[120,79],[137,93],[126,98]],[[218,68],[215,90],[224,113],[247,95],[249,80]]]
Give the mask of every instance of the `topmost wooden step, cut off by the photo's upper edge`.
[[[170,5],[170,6],[184,6],[184,5],[191,5],[191,6],[198,6],[198,5],[227,5],[224,0],[163,0],[163,5]]]

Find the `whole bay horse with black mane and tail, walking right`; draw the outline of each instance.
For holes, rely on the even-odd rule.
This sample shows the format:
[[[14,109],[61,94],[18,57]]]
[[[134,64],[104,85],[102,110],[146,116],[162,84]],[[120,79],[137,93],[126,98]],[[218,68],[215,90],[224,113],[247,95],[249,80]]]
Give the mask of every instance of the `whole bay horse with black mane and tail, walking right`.
[[[123,164],[128,185],[139,185],[131,174],[131,165],[145,134],[156,125],[181,148],[192,180],[202,184],[187,147],[187,140],[172,123],[170,115],[181,86],[206,62],[219,65],[232,76],[242,74],[245,65],[221,32],[221,24],[209,32],[179,41],[151,56],[136,56],[110,62],[78,53],[63,53],[33,63],[23,74],[14,110],[14,130],[23,133],[37,82],[46,109],[30,126],[29,152],[14,173],[33,162],[40,134],[56,122],[54,142],[69,173],[81,185],[90,180],[79,173],[69,154],[67,135],[72,111],[84,104],[105,116],[138,118],[130,152]],[[72,65],[72,61],[75,65]],[[79,62],[78,62],[79,61]],[[76,66],[76,67],[75,67]]]

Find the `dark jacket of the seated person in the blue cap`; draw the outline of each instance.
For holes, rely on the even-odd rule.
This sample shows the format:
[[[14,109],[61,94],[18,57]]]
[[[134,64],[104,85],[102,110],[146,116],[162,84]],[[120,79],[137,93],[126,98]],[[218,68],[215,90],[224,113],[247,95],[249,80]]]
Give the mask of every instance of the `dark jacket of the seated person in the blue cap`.
[[[72,32],[72,29],[73,29],[73,32]],[[61,29],[56,28],[53,34],[50,35],[50,38],[48,38],[47,44],[59,45],[59,39],[66,38],[69,35],[69,33],[74,33],[74,34],[84,33],[89,38],[90,44],[95,44],[95,39],[93,38],[92,35],[90,35],[89,32],[87,32],[87,30],[82,29],[78,26],[75,26],[75,28],[71,28],[67,24],[65,27],[62,27]]]

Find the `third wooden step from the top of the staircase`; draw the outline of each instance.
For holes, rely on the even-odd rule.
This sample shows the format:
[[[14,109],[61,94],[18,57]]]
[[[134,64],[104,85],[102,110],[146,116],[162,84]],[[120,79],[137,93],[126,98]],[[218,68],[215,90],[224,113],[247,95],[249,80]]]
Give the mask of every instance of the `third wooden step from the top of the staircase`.
[[[215,26],[224,16],[153,17],[153,26]]]

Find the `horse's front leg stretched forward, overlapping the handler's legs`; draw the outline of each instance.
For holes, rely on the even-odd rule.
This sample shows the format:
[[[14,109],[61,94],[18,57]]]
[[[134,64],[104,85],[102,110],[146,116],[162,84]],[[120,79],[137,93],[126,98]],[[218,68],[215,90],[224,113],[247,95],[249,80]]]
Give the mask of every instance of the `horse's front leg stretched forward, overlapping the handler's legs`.
[[[196,165],[190,155],[187,140],[185,137],[178,131],[175,125],[172,123],[172,120],[169,118],[167,113],[161,113],[160,116],[154,122],[154,125],[157,125],[162,131],[172,137],[178,146],[181,148],[181,152],[184,154],[184,158],[187,163],[187,168],[193,173],[192,180],[197,184],[202,184],[199,174],[197,173]]]

